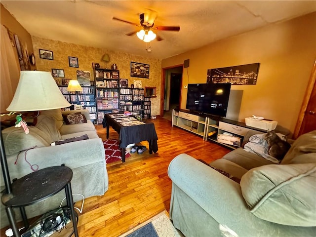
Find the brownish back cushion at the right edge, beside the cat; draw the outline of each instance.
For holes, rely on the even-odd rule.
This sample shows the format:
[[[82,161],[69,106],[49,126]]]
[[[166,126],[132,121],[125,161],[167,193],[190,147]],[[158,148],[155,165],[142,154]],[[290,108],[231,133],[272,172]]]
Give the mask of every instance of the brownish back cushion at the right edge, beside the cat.
[[[316,153],[316,130],[299,136],[286,153],[281,164],[290,164],[299,155]]]

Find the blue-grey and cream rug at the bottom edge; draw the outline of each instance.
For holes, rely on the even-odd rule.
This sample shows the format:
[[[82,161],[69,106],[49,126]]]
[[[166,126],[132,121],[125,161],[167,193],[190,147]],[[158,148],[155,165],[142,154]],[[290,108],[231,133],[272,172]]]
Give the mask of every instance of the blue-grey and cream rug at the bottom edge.
[[[172,225],[166,210],[119,237],[183,237]]]

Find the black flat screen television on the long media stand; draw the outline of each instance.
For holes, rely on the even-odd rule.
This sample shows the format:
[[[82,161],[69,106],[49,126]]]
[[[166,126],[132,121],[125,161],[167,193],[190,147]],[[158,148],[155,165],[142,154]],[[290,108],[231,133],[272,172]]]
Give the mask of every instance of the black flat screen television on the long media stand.
[[[188,84],[187,109],[225,117],[231,83]]]

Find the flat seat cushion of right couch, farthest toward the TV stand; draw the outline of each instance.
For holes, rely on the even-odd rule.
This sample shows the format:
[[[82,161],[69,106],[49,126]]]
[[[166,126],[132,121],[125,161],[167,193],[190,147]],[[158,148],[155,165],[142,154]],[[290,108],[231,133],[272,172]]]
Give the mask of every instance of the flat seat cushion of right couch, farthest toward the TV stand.
[[[223,158],[228,159],[247,170],[266,164],[274,164],[272,161],[267,160],[261,156],[246,152],[241,147],[226,154]]]

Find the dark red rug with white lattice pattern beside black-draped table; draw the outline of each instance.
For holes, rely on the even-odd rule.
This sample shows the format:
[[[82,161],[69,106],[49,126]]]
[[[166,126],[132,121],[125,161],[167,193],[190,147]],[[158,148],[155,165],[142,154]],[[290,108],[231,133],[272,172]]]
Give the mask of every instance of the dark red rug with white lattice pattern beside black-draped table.
[[[122,150],[119,149],[118,140],[108,139],[103,142],[105,150],[105,161],[107,164],[122,160]],[[125,151],[125,159],[129,158],[130,154]]]

